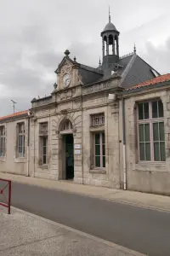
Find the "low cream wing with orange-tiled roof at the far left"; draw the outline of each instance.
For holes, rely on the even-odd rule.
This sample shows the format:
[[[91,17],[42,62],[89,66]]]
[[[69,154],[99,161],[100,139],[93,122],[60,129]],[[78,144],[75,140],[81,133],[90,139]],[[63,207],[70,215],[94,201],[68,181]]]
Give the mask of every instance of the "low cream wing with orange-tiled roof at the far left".
[[[28,111],[0,118],[0,172],[27,175]]]

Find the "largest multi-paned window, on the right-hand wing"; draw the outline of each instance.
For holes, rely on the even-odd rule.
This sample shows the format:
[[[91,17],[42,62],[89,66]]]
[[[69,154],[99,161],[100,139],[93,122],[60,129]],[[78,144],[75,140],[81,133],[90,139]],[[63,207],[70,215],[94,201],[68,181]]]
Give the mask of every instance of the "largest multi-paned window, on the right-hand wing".
[[[165,161],[163,104],[161,101],[138,104],[139,160]]]

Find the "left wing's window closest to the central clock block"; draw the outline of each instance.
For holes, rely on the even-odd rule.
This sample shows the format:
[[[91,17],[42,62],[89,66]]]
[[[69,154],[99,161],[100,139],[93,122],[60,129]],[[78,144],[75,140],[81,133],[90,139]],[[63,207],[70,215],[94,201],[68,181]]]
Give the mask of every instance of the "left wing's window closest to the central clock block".
[[[18,124],[17,156],[25,157],[25,124]]]

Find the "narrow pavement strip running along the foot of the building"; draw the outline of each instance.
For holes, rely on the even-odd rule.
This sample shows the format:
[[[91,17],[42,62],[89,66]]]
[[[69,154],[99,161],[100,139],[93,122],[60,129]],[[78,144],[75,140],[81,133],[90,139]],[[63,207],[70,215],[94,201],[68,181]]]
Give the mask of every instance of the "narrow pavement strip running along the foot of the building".
[[[103,200],[118,201],[133,206],[153,208],[170,212],[170,197],[164,195],[152,195],[120,189],[107,189],[67,181],[54,181],[35,177],[23,177],[8,173],[1,173],[1,178],[7,178],[15,182],[41,186],[47,189],[65,190],[70,193],[97,197]]]

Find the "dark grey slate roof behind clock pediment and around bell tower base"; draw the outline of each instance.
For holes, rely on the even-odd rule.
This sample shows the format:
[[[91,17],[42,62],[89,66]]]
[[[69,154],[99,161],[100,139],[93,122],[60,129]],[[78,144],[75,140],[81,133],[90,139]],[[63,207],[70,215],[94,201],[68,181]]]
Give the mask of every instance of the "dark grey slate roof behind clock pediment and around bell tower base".
[[[109,22],[108,24],[112,23]],[[72,61],[69,56],[65,56],[63,58],[55,73],[57,73],[65,59],[71,61],[72,64],[77,65],[78,73],[82,77],[82,83],[84,84],[84,86],[88,84],[99,83],[101,81],[105,82],[105,80],[114,77],[114,75],[111,75],[111,70],[114,66],[114,63],[112,62],[112,64],[110,63],[110,66],[108,66],[107,68],[104,66],[94,68],[78,63],[77,61]],[[114,62],[114,60],[110,61]],[[150,67],[148,63],[141,59],[139,55],[136,55],[136,52],[120,57],[119,60],[116,61],[116,64],[118,64],[119,66],[119,69],[116,73],[118,77],[121,77],[120,85],[122,86],[122,88],[125,89],[135,84],[143,83],[146,80],[154,79],[156,77],[156,74],[160,75],[160,73],[156,72],[153,67]]]

